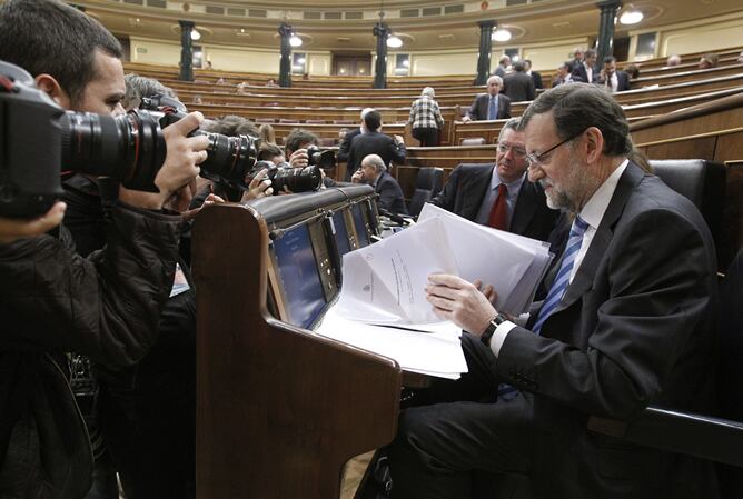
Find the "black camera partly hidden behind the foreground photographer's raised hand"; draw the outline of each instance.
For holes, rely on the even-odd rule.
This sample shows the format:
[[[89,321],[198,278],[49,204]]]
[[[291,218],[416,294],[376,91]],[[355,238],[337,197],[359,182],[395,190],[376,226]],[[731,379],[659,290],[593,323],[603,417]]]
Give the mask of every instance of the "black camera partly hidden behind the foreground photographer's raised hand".
[[[188,112],[178,99],[162,94],[142,98],[139,109],[158,113],[162,128],[180,120]],[[258,139],[250,136],[227,137],[202,130],[189,133],[189,137],[194,136],[206,136],[209,139],[207,159],[199,164],[200,176],[247,189],[245,179],[256,164]]]

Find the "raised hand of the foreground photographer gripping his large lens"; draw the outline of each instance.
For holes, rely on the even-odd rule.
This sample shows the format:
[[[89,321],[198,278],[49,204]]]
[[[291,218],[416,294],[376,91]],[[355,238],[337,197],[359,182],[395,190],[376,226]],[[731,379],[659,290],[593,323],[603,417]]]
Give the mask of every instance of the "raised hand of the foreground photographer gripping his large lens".
[[[120,188],[119,199],[139,208],[159,210],[165,202],[181,187],[199,174],[199,167],[207,159],[209,139],[204,136],[187,137],[204,121],[200,112],[186,114],[181,120],[162,130],[168,152],[162,168],[155,178],[160,192],[140,192]]]

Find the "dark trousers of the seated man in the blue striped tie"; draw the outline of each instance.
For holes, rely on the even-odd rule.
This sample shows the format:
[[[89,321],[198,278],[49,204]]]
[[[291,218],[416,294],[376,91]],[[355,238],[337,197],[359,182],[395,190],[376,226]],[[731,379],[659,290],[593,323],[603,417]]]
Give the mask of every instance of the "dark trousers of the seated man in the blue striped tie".
[[[395,499],[469,499],[477,497],[476,477],[482,473],[503,478],[531,471],[531,396],[478,401],[493,399],[497,391],[495,358],[477,338],[464,335],[462,343],[469,373],[457,382],[435,387],[433,398],[452,400],[459,391],[468,400],[403,411],[397,438],[389,447]],[[502,483],[512,481],[508,478]]]

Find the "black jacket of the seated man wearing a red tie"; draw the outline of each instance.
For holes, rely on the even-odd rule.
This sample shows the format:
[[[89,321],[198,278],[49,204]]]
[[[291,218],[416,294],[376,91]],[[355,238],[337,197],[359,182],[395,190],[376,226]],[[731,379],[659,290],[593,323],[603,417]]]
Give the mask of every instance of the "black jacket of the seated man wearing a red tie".
[[[444,189],[430,202],[467,220],[475,221],[485,192],[491,184],[493,163],[459,164]],[[508,231],[546,241],[559,211],[551,210],[541,186],[524,180],[516,199]]]

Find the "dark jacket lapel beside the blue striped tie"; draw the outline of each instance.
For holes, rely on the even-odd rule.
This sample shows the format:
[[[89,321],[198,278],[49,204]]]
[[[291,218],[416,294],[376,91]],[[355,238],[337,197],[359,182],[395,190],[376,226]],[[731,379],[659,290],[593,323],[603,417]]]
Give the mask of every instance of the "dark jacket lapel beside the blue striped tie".
[[[588,252],[586,252],[583,258],[583,262],[581,262],[581,267],[575,273],[573,282],[571,282],[565,290],[565,296],[554,313],[566,309],[577,301],[584,292],[591,289],[598,265],[601,263],[608,244],[612,242],[614,227],[622,216],[630,196],[632,196],[635,187],[637,187],[642,180],[643,174],[643,171],[635,163],[630,162],[627,164],[627,168],[620,178],[620,182],[616,184],[616,190],[614,190],[614,196],[612,196],[612,200],[606,208],[604,218],[601,220],[598,229],[596,229],[596,233],[591,241]]]

